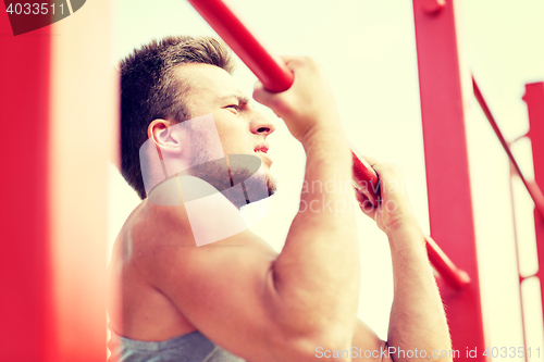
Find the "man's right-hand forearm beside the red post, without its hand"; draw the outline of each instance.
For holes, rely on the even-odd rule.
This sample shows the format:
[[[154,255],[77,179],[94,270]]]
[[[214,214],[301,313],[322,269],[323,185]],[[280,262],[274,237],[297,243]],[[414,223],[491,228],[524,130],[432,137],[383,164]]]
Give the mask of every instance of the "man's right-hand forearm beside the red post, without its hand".
[[[444,308],[426,257],[424,235],[417,222],[405,223],[387,233],[390,239],[394,300],[387,344],[397,350],[424,350],[429,361],[433,350],[450,350]],[[392,355],[396,361],[415,361]],[[450,360],[450,359],[443,359]]]

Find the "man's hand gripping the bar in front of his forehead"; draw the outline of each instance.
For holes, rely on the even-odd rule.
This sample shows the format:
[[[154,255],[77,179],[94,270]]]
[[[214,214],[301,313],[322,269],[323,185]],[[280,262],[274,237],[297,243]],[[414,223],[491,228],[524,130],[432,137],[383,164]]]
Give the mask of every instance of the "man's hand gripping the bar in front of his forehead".
[[[307,57],[282,57],[293,71],[293,86],[280,93],[269,92],[257,82],[254,98],[282,117],[302,145],[314,132],[339,129],[338,112],[322,67]]]

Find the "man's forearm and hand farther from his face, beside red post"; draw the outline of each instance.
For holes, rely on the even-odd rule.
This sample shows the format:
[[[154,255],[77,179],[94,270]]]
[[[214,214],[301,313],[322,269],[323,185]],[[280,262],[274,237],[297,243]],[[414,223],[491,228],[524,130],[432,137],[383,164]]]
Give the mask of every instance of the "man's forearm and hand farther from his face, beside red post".
[[[391,358],[395,362],[450,361],[432,355],[433,351],[449,351],[452,345],[424,235],[409,204],[405,180],[396,166],[367,159],[380,175],[382,205],[374,209],[358,198],[362,211],[387,235],[393,262],[394,299],[387,333]],[[419,358],[398,352],[416,352],[416,349]],[[421,358],[422,350],[426,358]]]

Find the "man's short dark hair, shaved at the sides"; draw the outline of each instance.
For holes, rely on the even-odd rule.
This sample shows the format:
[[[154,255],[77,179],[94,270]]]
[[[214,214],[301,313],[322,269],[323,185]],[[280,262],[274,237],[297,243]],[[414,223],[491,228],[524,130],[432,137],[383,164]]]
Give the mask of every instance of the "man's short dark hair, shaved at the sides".
[[[212,37],[165,37],[134,50],[120,63],[121,71],[121,174],[141,199],[147,197],[139,149],[147,128],[157,118],[180,123],[189,120],[184,103],[188,85],[175,70],[186,63],[219,66],[230,74],[234,60],[226,46]]]

